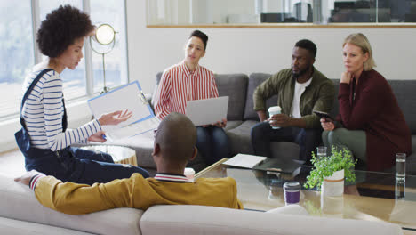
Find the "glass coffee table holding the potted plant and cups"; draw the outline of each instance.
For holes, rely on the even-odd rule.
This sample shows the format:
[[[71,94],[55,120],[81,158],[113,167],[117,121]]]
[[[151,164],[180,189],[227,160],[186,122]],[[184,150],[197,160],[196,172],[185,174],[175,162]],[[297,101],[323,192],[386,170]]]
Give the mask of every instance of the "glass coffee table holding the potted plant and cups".
[[[237,196],[245,209],[267,211],[283,207],[283,184],[306,181],[311,166],[301,166],[300,173],[268,174],[265,171],[223,165],[227,158],[205,168],[199,177],[232,177],[237,183]],[[356,170],[356,185],[347,187],[356,194],[342,197],[321,197],[313,189],[300,191],[300,206],[313,216],[385,221],[397,223],[405,234],[416,234],[416,175],[406,175],[404,184],[397,184],[395,174]]]

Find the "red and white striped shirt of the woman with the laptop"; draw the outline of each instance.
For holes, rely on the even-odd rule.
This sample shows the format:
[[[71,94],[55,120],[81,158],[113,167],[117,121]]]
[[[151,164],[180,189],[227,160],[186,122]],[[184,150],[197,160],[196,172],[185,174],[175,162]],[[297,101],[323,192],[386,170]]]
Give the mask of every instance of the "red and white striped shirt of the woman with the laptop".
[[[202,66],[189,71],[185,61],[164,70],[155,96],[156,117],[164,119],[171,112],[185,114],[187,101],[218,97],[213,73]]]

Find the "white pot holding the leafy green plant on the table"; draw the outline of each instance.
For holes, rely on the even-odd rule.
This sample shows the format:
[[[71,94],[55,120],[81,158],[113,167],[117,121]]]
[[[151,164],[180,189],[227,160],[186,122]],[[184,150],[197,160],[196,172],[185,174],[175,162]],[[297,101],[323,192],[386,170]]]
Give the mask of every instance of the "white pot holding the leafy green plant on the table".
[[[342,196],[344,194],[344,170],[334,172],[332,176],[324,177],[321,193],[324,197]]]

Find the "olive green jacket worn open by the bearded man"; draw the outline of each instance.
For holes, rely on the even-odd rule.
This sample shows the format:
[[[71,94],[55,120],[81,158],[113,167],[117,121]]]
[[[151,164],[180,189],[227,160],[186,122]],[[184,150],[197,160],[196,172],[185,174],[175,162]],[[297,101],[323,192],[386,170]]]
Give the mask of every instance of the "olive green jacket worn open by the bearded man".
[[[335,88],[330,79],[314,69],[312,82],[300,96],[300,114],[307,128],[319,128],[319,117],[312,111],[330,112],[334,101]],[[277,105],[282,113],[292,116],[292,101],[295,80],[292,69],[282,69],[272,77],[260,84],[252,95],[254,110],[266,110],[266,100],[277,94]]]

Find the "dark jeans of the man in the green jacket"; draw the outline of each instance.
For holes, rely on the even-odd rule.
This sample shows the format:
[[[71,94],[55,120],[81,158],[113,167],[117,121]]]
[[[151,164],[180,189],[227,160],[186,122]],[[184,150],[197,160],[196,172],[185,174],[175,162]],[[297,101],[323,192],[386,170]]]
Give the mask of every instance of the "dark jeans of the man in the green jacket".
[[[270,142],[295,142],[300,146],[299,159],[310,164],[311,152],[321,143],[322,129],[294,126],[273,129],[268,122],[252,126],[252,148],[258,156],[271,158]]]

